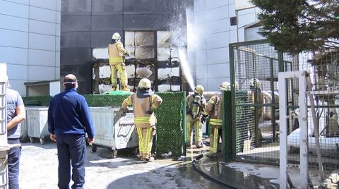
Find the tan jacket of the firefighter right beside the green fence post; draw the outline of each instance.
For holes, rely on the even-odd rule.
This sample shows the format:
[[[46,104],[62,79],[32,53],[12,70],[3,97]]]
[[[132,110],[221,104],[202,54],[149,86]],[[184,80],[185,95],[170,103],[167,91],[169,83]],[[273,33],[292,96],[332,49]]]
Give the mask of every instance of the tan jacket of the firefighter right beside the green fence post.
[[[210,115],[210,126],[222,128],[222,94],[215,94],[210,98],[203,115]]]

